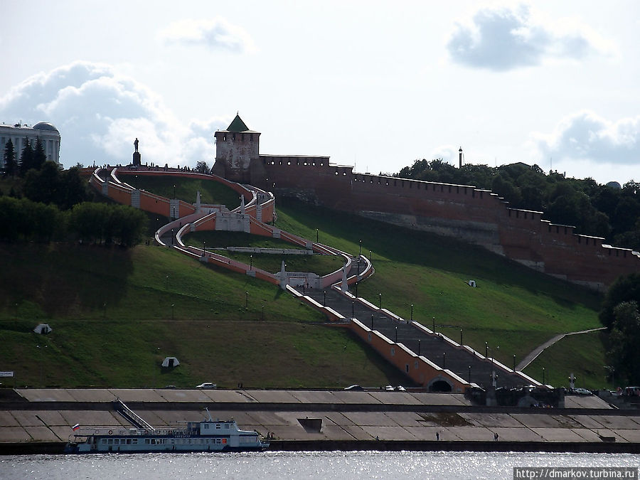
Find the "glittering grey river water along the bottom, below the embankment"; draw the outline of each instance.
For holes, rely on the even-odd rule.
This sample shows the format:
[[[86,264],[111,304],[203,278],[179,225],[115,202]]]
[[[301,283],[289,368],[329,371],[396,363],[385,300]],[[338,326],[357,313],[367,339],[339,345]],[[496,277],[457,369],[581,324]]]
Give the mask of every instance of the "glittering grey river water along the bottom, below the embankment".
[[[0,456],[0,479],[512,479],[515,466],[639,464],[636,454],[513,452],[21,455]]]

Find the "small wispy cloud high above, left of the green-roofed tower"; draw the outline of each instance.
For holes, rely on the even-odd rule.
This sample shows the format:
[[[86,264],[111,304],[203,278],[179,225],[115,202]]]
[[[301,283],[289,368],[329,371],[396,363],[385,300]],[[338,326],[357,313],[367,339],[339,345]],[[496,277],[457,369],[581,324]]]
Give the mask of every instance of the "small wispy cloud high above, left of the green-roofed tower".
[[[206,46],[233,53],[247,53],[255,50],[249,33],[222,17],[208,20],[188,18],[175,21],[164,28],[159,33],[159,37],[167,44]]]

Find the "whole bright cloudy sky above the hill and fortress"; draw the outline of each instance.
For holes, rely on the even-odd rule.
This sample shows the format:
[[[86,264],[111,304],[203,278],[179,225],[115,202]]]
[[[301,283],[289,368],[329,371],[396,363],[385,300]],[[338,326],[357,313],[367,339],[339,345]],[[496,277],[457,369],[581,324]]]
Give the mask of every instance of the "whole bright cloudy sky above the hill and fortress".
[[[60,160],[195,166],[235,114],[260,153],[640,181],[640,3],[0,0],[0,122]]]

